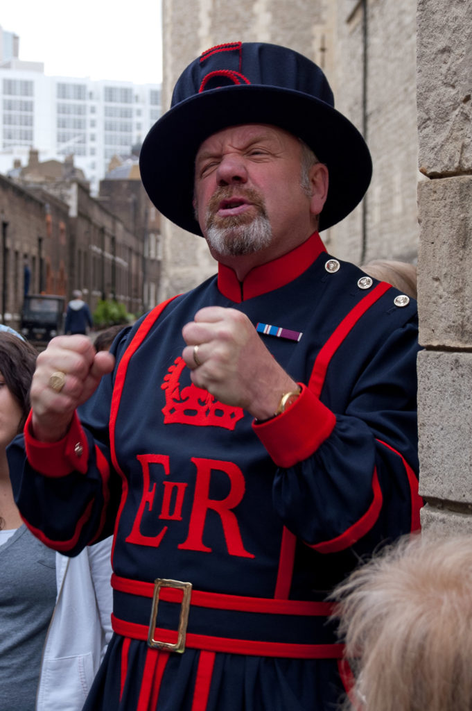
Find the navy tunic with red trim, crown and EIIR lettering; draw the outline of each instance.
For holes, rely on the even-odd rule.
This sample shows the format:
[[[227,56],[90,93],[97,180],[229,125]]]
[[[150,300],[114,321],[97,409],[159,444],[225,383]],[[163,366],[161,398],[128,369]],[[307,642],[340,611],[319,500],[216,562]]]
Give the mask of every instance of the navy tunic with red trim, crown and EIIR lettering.
[[[16,440],[36,535],[75,555],[115,533],[115,635],[87,711],[336,707],[346,674],[326,596],[418,528],[421,505],[416,304],[363,276],[317,234],[243,284],[220,265],[124,333],[64,442],[27,436],[19,466]],[[302,385],[283,415],[255,423],[191,383],[182,326],[209,305],[302,334],[260,335]],[[192,584],[183,653],[146,641],[158,578]],[[151,638],[177,641],[181,599],[160,589]]]

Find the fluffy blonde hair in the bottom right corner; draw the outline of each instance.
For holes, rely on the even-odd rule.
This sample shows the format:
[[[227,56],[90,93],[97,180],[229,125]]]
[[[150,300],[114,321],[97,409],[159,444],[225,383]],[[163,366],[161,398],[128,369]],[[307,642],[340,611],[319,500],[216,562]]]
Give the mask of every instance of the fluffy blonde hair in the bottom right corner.
[[[341,583],[346,709],[472,710],[472,535],[415,535]]]

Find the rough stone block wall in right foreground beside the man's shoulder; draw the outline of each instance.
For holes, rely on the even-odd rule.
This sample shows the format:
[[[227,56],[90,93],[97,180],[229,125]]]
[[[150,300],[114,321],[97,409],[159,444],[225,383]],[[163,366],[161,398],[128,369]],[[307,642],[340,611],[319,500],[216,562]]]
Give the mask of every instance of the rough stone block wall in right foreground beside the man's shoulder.
[[[472,5],[418,0],[424,528],[472,533]]]

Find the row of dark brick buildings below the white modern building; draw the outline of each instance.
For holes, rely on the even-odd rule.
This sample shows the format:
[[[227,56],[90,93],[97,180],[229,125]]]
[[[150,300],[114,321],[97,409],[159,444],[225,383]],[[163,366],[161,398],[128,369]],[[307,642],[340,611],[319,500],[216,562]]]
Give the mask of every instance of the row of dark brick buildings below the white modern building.
[[[29,293],[67,301],[81,289],[92,312],[100,299],[115,299],[133,315],[155,306],[160,223],[141,181],[106,179],[96,199],[56,163],[0,176],[3,322],[19,326],[25,269]]]

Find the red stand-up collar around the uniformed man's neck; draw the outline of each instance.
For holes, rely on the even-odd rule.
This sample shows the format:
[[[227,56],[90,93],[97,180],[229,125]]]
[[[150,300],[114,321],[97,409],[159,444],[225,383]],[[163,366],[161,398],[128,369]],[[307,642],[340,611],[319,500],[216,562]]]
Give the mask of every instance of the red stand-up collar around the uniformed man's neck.
[[[218,264],[218,289],[231,301],[241,304],[241,301],[272,292],[300,277],[322,252],[326,252],[326,247],[318,232],[314,232],[295,250],[251,269],[243,282],[239,282],[231,267]]]

